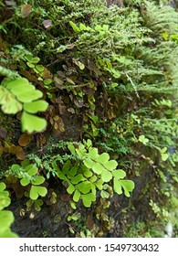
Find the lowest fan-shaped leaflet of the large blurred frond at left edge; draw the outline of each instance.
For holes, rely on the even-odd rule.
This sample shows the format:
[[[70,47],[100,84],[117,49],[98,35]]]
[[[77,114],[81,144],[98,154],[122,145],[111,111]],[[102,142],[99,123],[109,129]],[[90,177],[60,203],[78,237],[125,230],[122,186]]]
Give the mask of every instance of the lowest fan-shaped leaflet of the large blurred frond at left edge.
[[[22,130],[28,133],[42,132],[47,127],[47,121],[41,117],[23,112],[21,117]]]

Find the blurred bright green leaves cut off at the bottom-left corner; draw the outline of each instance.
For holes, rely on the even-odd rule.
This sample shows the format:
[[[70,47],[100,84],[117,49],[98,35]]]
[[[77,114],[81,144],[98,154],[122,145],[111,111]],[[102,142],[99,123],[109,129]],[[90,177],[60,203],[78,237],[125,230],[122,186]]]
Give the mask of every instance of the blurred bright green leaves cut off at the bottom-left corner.
[[[5,183],[0,182],[0,238],[16,238],[16,233],[10,229],[11,224],[14,222],[14,215],[12,211],[5,210],[4,208],[10,205],[10,197],[5,190]]]

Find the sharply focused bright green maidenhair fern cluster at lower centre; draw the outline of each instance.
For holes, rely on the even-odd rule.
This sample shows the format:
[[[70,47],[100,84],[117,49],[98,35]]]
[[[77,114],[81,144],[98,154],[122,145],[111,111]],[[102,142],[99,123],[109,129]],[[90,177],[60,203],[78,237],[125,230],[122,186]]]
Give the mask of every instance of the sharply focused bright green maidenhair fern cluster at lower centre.
[[[56,166],[56,171],[58,177],[68,184],[67,191],[72,195],[74,208],[79,199],[85,207],[90,207],[96,201],[98,190],[104,198],[111,197],[113,192],[131,196],[134,183],[124,179],[125,171],[117,169],[118,163],[110,160],[108,153],[99,154],[98,148],[93,147],[89,139],[83,144],[69,143],[68,149],[76,157],[75,164],[68,159],[61,168]]]

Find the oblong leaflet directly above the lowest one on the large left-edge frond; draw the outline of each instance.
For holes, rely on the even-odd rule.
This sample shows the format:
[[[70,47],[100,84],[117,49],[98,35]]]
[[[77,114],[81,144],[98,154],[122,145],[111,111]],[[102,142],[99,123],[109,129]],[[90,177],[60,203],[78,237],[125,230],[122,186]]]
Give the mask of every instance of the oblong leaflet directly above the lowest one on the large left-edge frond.
[[[24,104],[24,110],[30,113],[45,112],[47,110],[47,106],[47,101],[43,100],[27,102]]]

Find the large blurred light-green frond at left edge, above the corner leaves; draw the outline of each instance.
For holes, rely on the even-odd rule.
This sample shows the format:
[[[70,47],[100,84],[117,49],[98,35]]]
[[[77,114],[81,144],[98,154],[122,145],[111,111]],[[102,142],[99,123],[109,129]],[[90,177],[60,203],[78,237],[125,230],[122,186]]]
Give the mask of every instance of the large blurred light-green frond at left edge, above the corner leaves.
[[[0,86],[0,94],[3,112],[15,114],[23,111],[21,116],[23,132],[41,132],[47,127],[45,119],[32,114],[46,111],[47,101],[38,100],[43,94],[36,90],[28,80],[25,78],[4,79]]]

